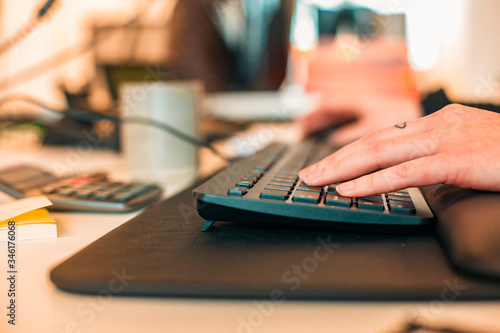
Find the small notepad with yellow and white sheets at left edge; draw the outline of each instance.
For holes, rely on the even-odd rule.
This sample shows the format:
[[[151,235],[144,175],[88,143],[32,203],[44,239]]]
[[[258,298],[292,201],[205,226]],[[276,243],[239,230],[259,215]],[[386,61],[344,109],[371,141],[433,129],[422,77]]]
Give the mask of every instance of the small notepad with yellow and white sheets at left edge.
[[[19,199],[0,205],[0,241],[56,238],[57,224],[44,207],[47,197]]]

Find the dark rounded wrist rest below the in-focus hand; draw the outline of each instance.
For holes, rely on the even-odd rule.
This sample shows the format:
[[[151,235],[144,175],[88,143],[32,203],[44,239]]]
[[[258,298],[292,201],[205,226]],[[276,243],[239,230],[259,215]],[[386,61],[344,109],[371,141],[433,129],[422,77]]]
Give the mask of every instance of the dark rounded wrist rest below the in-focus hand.
[[[500,279],[500,193],[448,185],[422,188],[451,263],[466,273]]]

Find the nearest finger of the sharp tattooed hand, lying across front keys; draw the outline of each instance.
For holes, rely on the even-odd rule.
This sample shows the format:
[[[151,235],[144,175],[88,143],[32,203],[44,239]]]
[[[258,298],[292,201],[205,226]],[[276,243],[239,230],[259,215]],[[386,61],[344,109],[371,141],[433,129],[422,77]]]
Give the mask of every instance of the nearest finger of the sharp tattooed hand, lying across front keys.
[[[337,186],[339,194],[363,197],[407,187],[444,183],[448,168],[441,155],[422,157],[383,169]]]

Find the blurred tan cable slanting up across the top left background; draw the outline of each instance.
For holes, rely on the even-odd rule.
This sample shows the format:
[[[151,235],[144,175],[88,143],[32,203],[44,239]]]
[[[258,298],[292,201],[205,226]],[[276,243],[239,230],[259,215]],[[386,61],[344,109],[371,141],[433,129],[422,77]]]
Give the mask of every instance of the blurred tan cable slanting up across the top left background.
[[[134,24],[136,24],[140,18],[147,13],[147,8],[151,3],[155,2],[157,0],[150,0],[147,2],[147,5],[145,5],[139,13],[134,15],[132,18],[130,18],[128,21],[126,21],[121,27],[127,28],[130,27]],[[175,2],[174,2],[175,3]],[[167,10],[168,11],[168,10]],[[38,76],[44,74],[48,70],[60,66],[70,60],[75,59],[76,57],[84,54],[85,52],[88,52],[92,50],[97,44],[101,43],[102,41],[106,40],[112,36],[112,34],[108,34],[107,36],[104,36],[100,38],[99,40],[91,40],[91,41],[86,41],[83,43],[76,43],[73,44],[62,51],[51,55],[50,57],[47,57],[43,60],[40,60],[39,62],[28,66],[24,69],[19,70],[17,73],[14,73],[10,75],[9,77],[3,79],[0,81],[0,91],[7,89],[7,88],[12,88],[13,86],[23,84],[25,82],[28,82],[30,80],[33,80],[37,78]]]

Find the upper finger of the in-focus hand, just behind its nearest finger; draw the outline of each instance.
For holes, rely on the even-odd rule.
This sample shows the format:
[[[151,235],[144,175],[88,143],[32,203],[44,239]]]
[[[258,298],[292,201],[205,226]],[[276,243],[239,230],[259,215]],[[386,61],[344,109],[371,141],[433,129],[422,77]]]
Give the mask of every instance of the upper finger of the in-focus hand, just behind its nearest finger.
[[[317,163],[314,172],[300,174],[311,186],[322,186],[353,179],[379,169],[438,152],[438,143],[429,132],[398,136],[373,142],[356,152],[337,158],[335,154]]]

